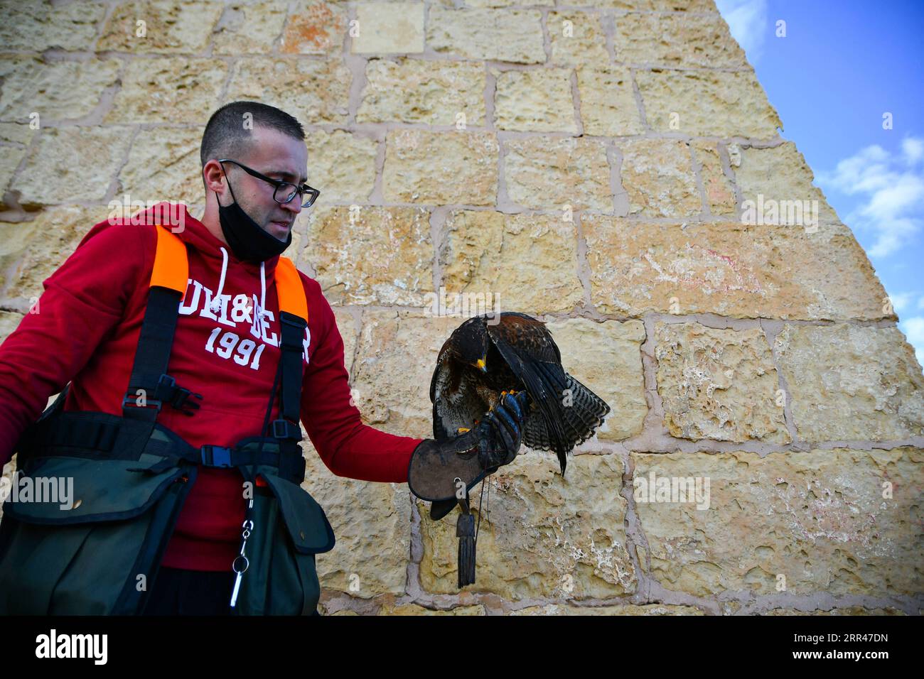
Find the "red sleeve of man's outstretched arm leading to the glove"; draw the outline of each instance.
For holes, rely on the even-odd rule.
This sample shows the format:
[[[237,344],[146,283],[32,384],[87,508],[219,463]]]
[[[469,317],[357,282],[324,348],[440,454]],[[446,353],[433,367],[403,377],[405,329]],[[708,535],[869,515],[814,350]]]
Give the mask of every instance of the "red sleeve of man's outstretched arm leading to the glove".
[[[312,300],[314,301],[312,306]],[[309,297],[309,315],[320,314],[326,328],[311,356],[302,382],[301,421],[324,464],[349,479],[407,482],[407,466],[423,439],[396,436],[363,424],[359,408],[350,406],[344,343],[334,310],[318,295]]]

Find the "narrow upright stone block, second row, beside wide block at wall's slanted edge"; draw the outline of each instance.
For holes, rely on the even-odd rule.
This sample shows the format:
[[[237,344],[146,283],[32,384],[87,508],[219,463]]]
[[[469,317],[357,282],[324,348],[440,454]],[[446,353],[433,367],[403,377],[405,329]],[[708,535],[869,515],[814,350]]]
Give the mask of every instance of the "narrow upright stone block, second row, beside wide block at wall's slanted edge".
[[[628,68],[579,67],[577,91],[584,134],[618,137],[645,131]]]

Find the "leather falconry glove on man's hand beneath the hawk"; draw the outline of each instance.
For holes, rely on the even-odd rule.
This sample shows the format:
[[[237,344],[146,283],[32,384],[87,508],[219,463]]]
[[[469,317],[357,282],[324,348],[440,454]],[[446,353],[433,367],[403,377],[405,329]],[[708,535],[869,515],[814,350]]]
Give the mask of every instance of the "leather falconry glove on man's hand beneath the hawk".
[[[443,441],[421,442],[407,468],[410,491],[433,503],[455,501],[481,479],[513,462],[523,438],[528,398],[526,392],[507,392],[475,429]]]

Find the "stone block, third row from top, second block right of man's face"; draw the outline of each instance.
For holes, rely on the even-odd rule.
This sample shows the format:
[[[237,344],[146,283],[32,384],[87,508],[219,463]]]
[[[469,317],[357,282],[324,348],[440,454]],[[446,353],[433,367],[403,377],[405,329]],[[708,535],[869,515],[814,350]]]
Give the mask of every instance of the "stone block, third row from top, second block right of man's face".
[[[592,139],[530,137],[505,141],[510,200],[527,208],[612,210],[606,147]]]

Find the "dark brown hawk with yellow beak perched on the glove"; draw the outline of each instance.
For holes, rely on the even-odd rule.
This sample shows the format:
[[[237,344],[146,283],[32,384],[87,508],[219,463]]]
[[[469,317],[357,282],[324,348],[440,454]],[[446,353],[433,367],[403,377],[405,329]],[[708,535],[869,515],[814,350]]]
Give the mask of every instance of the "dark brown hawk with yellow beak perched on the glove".
[[[566,456],[602,425],[610,406],[565,372],[562,355],[545,323],[503,311],[463,322],[440,349],[430,382],[433,438],[474,427],[502,394],[526,390],[529,414],[523,443]]]

